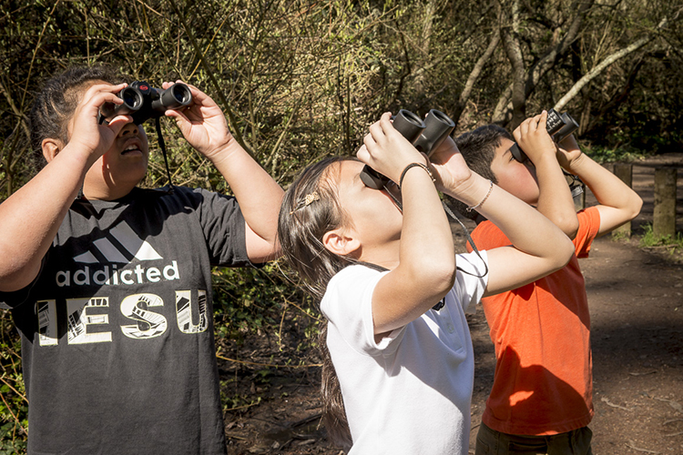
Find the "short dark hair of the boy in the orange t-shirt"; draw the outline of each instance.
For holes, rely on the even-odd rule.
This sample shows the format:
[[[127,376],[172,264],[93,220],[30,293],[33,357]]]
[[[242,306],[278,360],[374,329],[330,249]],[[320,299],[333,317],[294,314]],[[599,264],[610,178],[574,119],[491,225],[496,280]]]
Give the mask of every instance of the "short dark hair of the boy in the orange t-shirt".
[[[501,139],[515,138],[503,127],[497,125],[485,125],[468,131],[455,138],[455,145],[458,146],[460,153],[463,154],[467,166],[484,178],[498,183],[494,171],[491,170],[491,163],[494,161],[495,148],[501,145]],[[466,206],[459,200],[453,199],[455,208],[465,217],[474,219],[477,213],[467,212]]]

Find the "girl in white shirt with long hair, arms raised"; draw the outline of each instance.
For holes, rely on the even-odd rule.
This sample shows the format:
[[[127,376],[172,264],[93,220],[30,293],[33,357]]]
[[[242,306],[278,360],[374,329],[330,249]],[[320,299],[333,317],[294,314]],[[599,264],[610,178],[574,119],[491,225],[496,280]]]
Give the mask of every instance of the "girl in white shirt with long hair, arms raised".
[[[464,309],[564,267],[574,248],[471,172],[450,137],[430,163],[386,113],[357,156],[303,170],[280,209],[283,253],[329,321],[326,428],[350,453],[466,454],[474,359]],[[364,164],[398,182],[395,194],[366,187]],[[514,246],[456,256],[438,191]]]

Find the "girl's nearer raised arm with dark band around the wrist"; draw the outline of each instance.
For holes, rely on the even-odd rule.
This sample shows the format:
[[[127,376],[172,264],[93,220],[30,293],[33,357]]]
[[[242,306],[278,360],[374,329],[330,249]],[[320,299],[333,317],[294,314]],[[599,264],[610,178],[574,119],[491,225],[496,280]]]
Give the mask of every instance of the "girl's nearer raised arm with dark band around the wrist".
[[[424,168],[426,159],[393,128],[389,114],[371,126],[358,157],[400,182],[403,199],[403,226],[395,233],[400,242],[390,239],[377,246],[386,250],[382,254],[390,263],[385,267],[391,269],[372,294],[374,331],[380,335],[419,318],[453,287],[454,244],[436,187]]]

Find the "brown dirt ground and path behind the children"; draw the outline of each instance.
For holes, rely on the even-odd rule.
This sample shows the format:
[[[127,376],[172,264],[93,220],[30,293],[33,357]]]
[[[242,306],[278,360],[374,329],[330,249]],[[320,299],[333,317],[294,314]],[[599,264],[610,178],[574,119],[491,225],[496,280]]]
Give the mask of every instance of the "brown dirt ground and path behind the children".
[[[683,155],[658,157],[683,164]],[[683,178],[678,177],[678,232],[683,232]],[[592,318],[594,432],[596,455],[683,454],[683,254],[641,248],[643,225],[653,210],[652,167],[635,166],[633,187],[644,207],[633,223],[634,237],[598,238],[580,264]],[[586,195],[586,205],[595,204]],[[471,225],[470,225],[471,227]],[[462,241],[454,227],[456,242]],[[479,308],[470,319],[475,380],[470,453],[494,374],[494,347]],[[245,346],[249,345],[249,341]],[[277,347],[242,347],[234,355],[253,362],[284,364]],[[229,351],[227,351],[229,352]],[[229,353],[225,354],[227,357]],[[297,362],[317,363],[302,353]],[[333,454],[320,426],[318,368],[268,369],[223,361],[226,393],[241,393],[258,404],[226,413],[229,454]],[[264,376],[265,374],[265,376]],[[266,378],[266,380],[263,380]]]

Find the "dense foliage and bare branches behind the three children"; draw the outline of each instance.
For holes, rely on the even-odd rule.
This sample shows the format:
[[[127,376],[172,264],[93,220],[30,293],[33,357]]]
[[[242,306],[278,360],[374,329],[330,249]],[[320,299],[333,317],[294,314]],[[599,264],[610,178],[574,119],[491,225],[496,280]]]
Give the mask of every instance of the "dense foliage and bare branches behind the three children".
[[[680,0],[1,0],[0,200],[35,172],[26,115],[36,91],[70,65],[109,63],[153,86],[180,78],[203,88],[283,187],[320,157],[352,154],[374,119],[402,107],[438,108],[464,131],[514,127],[559,103],[579,120],[586,147],[679,149],[682,8]],[[148,136],[157,149],[153,128]],[[164,126],[173,182],[229,192],[178,136]],[[165,176],[153,153],[144,185]],[[219,337],[277,331],[288,302],[311,311],[285,273],[217,270]],[[0,453],[24,450],[18,353],[5,314]]]

